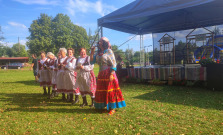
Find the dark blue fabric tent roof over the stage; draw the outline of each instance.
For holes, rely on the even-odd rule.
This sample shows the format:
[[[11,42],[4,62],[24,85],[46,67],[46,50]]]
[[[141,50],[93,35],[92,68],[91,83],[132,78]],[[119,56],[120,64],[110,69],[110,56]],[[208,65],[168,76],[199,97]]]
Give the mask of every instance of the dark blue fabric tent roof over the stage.
[[[98,26],[148,34],[223,24],[223,0],[136,0],[100,19]]]

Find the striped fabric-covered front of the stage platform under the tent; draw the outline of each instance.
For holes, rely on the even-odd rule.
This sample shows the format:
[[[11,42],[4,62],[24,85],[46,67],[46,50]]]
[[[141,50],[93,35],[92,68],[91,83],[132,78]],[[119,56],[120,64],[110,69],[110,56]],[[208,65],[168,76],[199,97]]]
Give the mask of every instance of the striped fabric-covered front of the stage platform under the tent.
[[[170,76],[173,80],[207,80],[206,67],[200,64],[150,65],[127,68],[127,72],[129,77],[147,80],[168,80]]]

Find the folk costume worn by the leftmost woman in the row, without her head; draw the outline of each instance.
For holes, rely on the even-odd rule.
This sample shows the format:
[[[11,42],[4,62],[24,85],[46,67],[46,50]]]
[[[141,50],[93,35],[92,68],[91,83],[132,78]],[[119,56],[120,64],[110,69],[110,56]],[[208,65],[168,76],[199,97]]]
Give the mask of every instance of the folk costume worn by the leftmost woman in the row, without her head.
[[[51,77],[50,72],[47,69],[48,67],[48,58],[41,59],[38,62],[38,74],[39,74],[39,82],[40,86],[44,89],[44,95],[47,95],[46,87],[48,87],[48,94],[50,95],[50,87],[51,87]]]

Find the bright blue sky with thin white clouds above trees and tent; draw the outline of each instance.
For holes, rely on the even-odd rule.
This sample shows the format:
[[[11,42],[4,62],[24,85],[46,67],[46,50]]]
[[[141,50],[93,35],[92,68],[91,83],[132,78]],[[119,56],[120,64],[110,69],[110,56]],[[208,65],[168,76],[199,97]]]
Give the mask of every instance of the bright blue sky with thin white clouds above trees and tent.
[[[33,20],[46,13],[55,17],[58,13],[67,14],[72,22],[95,31],[97,19],[115,11],[134,0],[0,0],[0,25],[5,45],[12,46],[18,42],[26,43],[29,36],[28,28]],[[115,30],[104,29],[104,36],[108,37],[111,44],[121,45],[133,35]],[[145,35],[144,45],[152,44],[151,35]],[[126,43],[120,49],[132,48],[138,51],[139,37]],[[152,47],[150,47],[150,50]]]

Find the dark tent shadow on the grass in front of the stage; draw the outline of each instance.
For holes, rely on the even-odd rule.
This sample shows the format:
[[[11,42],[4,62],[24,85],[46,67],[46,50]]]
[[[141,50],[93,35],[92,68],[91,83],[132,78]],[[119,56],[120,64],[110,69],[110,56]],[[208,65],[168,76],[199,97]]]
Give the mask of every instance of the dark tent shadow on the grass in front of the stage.
[[[195,106],[204,109],[223,110],[222,97],[223,91],[209,91],[181,86],[158,86],[158,89],[156,90],[149,90],[149,92],[147,90],[146,93],[144,92],[144,94],[133,98],[177,105]]]

